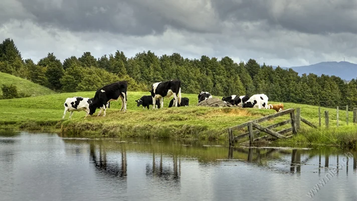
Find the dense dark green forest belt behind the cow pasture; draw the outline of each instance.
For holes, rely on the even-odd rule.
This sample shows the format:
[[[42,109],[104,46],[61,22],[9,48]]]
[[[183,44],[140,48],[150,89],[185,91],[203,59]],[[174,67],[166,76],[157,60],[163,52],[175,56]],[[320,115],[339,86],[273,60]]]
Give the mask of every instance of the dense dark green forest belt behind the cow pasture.
[[[209,91],[213,95],[265,93],[269,100],[315,106],[357,105],[357,80],[345,83],[336,76],[302,74],[292,69],[261,66],[254,59],[235,63],[203,55],[183,58],[179,53],[157,56],[151,51],[127,58],[122,51],[95,58],[84,52],[61,62],[53,53],[35,63],[23,59],[12,39],[0,44],[0,71],[47,86],[58,92],[93,91],[127,80],[128,90],[146,91],[153,82],[180,79],[184,93]]]

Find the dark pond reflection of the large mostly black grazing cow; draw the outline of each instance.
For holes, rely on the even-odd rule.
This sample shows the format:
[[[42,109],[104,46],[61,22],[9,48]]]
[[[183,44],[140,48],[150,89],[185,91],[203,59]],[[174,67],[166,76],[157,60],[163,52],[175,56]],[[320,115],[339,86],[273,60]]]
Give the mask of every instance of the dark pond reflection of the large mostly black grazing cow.
[[[98,145],[99,153],[96,153],[95,145],[90,144],[90,157],[96,167],[96,169],[107,176],[119,177],[126,180],[127,176],[127,161],[126,161],[126,149],[121,147],[121,160],[107,160],[107,151],[104,144]],[[99,155],[99,156],[97,156]]]

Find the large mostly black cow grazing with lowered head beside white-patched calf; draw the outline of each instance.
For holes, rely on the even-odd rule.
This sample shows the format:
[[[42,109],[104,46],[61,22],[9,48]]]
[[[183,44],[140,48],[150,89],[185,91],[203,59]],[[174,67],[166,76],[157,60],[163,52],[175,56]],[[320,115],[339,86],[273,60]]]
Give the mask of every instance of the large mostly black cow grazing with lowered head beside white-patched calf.
[[[127,87],[128,87],[127,81],[118,81],[99,88],[95,92],[92,103],[89,104],[89,115],[93,115],[97,108],[103,107],[104,109],[103,117],[105,117],[106,104],[113,100],[118,101],[119,98],[121,99],[121,103],[122,103],[120,111],[123,111],[124,109],[123,112],[125,112],[126,102],[127,102],[127,95],[126,95]],[[102,109],[100,109],[98,116],[100,116],[101,112]]]

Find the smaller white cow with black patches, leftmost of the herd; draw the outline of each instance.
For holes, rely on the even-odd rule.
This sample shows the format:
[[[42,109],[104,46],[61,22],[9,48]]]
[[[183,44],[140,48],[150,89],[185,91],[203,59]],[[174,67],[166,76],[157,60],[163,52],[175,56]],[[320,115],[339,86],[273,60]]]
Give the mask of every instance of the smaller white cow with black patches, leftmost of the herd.
[[[62,119],[65,118],[66,112],[71,112],[68,118],[71,119],[74,111],[77,112],[85,111],[87,113],[85,116],[86,118],[89,114],[89,104],[92,103],[92,99],[93,98],[81,97],[81,96],[68,97],[64,103],[65,112],[63,113]],[[108,103],[107,108],[109,107],[110,106]]]

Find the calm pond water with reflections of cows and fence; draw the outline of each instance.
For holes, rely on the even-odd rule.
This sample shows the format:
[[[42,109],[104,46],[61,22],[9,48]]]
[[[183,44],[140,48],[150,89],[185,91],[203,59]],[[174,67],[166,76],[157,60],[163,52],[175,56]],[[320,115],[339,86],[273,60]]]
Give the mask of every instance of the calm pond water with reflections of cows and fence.
[[[0,200],[355,200],[355,151],[0,134]],[[344,153],[350,152],[348,164]],[[310,198],[306,194],[337,166]],[[320,165],[319,165],[320,161]],[[325,162],[326,161],[326,162]],[[327,167],[325,167],[328,166]]]

